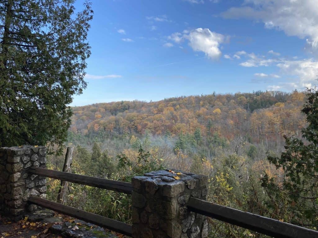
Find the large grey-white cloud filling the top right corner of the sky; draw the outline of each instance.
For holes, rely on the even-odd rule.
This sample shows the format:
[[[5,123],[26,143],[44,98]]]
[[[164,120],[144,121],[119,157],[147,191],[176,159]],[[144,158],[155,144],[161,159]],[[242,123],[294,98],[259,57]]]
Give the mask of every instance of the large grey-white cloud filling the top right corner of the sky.
[[[298,36],[318,48],[317,0],[245,0],[242,7],[222,13],[225,18],[260,20],[265,28],[282,30],[287,36]]]

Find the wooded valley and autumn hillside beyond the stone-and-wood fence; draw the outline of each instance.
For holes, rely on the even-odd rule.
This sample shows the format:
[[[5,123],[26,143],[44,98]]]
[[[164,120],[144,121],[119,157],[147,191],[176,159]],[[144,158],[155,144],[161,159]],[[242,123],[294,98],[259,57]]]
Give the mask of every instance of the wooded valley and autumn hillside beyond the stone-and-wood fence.
[[[302,128],[315,127],[310,120],[314,114],[308,117],[305,112],[316,107],[313,95],[298,91],[213,93],[73,107],[68,135],[68,144],[76,146],[73,172],[126,182],[165,168],[205,174],[210,202],[316,229],[316,200],[303,203],[306,199],[301,198],[308,193],[316,197],[309,192],[316,189],[309,176],[309,172],[317,173],[316,160],[308,157],[312,168],[296,171],[297,178],[290,177],[289,171],[292,175],[295,171],[288,169],[294,165],[299,169],[301,161],[292,142],[303,143],[302,151],[308,152],[307,137],[302,138],[307,129]],[[284,156],[278,159],[284,146],[289,148],[287,155],[295,156],[293,163]],[[62,161],[62,157],[51,157],[49,166],[60,169]],[[53,200],[57,188],[52,183],[49,189]],[[295,188],[296,194],[291,192]],[[67,203],[72,206],[131,221],[127,195],[75,184],[69,192]],[[265,237],[220,221],[209,222],[209,237]]]

